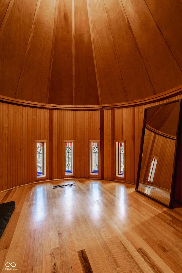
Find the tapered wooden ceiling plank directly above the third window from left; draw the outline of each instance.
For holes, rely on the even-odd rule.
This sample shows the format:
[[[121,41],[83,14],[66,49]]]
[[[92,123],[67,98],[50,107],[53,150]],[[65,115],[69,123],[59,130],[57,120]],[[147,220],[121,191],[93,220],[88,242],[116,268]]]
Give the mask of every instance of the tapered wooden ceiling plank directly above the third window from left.
[[[99,104],[86,0],[75,0],[75,104]]]

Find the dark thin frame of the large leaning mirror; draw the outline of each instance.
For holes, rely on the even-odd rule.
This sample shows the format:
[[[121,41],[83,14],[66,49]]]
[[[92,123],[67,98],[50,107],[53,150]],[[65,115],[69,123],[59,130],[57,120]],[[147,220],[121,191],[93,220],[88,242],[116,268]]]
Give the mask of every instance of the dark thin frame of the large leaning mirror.
[[[138,185],[139,185],[139,180],[140,180],[140,170],[141,170],[141,164],[142,164],[142,152],[143,152],[143,145],[144,145],[144,135],[145,135],[145,127],[146,127],[146,115],[147,115],[147,110],[154,108],[154,107],[159,107],[159,106],[163,106],[166,104],[171,104],[171,103],[175,103],[175,102],[179,102],[179,118],[178,118],[178,122],[177,122],[177,130],[176,130],[176,142],[175,142],[175,152],[174,152],[174,161],[173,161],[173,172],[172,172],[172,179],[171,179],[171,192],[170,192],[170,200],[169,200],[169,206],[165,203],[163,203],[162,201],[151,197],[150,195],[147,195],[146,193],[143,193],[141,191],[138,190]],[[148,108],[145,108],[144,111],[144,120],[143,120],[143,127],[142,127],[142,137],[141,137],[141,143],[140,143],[140,155],[139,155],[139,161],[138,161],[138,171],[137,171],[137,182],[136,182],[136,187],[135,190],[138,193],[141,193],[142,195],[145,195],[146,197],[166,206],[167,208],[173,208],[173,202],[174,202],[174,198],[175,198],[175,180],[176,180],[176,173],[177,173],[177,163],[178,163],[178,154],[179,154],[179,144],[180,144],[180,133],[181,133],[181,118],[182,118],[182,105],[181,105],[181,99],[179,100],[173,100],[167,103],[163,103],[163,104],[158,104],[155,106],[151,106]]]

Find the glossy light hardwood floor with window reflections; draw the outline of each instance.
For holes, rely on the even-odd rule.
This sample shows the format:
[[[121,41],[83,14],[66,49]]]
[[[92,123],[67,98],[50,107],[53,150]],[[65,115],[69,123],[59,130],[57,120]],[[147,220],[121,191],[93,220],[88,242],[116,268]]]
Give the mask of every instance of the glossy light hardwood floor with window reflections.
[[[68,183],[76,187],[52,189]],[[182,272],[182,208],[169,210],[134,185],[56,180],[0,193],[1,203],[11,200],[0,272],[13,262],[21,273]]]

